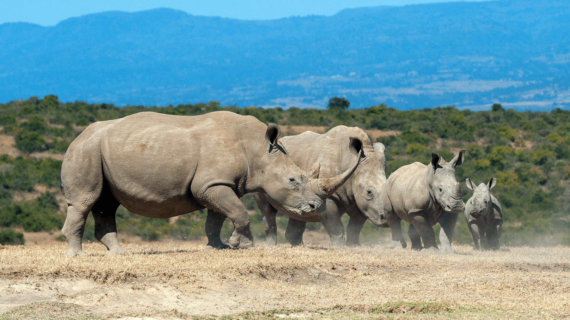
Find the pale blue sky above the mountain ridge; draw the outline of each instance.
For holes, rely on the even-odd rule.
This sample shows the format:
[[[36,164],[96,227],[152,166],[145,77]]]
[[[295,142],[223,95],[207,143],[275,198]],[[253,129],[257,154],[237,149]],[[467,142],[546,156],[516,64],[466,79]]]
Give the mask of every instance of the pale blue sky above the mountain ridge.
[[[102,11],[140,11],[157,7],[184,10],[193,15],[237,19],[278,19],[291,15],[333,15],[345,8],[403,6],[441,0],[2,0],[0,23],[32,22],[54,26],[61,20]]]

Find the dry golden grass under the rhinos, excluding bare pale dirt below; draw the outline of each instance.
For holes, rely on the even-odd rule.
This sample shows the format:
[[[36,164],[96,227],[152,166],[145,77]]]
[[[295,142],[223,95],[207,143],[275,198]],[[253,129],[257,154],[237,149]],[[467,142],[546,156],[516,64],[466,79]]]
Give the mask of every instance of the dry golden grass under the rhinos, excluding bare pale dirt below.
[[[10,283],[65,278],[104,286],[166,284],[195,294],[214,290],[235,296],[248,310],[334,305],[364,310],[421,302],[559,316],[570,311],[568,247],[477,252],[458,246],[457,255],[434,255],[386,246],[281,245],[206,252],[202,246],[127,244],[132,255],[105,256],[103,245],[87,244],[83,258],[62,257],[66,245],[3,246],[0,278]]]

